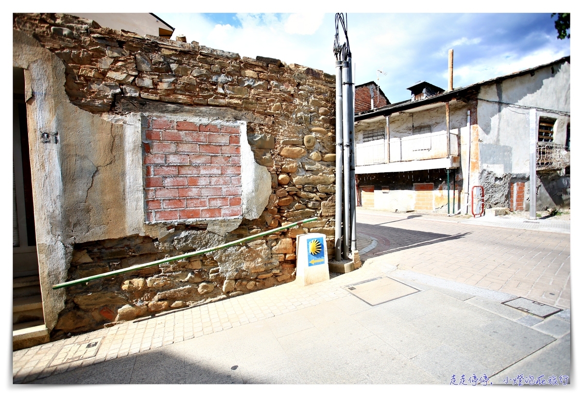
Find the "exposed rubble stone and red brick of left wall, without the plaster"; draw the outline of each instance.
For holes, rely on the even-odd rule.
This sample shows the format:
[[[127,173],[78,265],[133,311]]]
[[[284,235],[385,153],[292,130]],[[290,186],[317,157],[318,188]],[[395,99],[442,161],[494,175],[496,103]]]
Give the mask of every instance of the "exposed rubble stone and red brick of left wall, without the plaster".
[[[201,257],[67,288],[51,338],[293,281],[300,232],[326,233],[332,253],[334,76],[196,42],[142,37],[63,14],[14,14],[13,29],[61,59],[68,100],[103,119],[127,115],[122,103],[134,104],[138,112],[144,104],[171,104],[174,116],[200,107],[209,119],[216,119],[215,110],[247,119],[247,136],[241,137],[240,130],[220,120],[194,125],[170,115],[143,115],[144,222],[154,223],[145,235],[78,243],[73,230],[72,238],[63,240],[72,251],[64,264],[68,280],[216,246],[308,217],[321,219]],[[245,170],[240,139],[247,139],[255,162],[272,176],[268,203],[256,219],[244,219],[241,212]],[[124,158],[115,156],[112,151],[95,175],[121,167]],[[72,161],[68,166],[75,169],[74,158],[62,161]],[[86,184],[92,186],[92,179]]]

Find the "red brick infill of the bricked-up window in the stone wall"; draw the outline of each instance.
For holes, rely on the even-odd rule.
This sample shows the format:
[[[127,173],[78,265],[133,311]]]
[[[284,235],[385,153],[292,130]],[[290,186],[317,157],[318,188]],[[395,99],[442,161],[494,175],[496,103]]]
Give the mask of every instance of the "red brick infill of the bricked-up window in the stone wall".
[[[144,137],[146,222],[240,218],[240,128],[150,116]]]

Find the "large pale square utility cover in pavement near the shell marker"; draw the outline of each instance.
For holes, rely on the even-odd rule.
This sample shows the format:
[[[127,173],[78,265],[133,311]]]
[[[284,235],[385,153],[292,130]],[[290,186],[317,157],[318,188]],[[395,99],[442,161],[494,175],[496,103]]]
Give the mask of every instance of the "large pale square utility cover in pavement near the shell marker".
[[[388,277],[372,278],[370,280],[346,285],[344,288],[352,293],[352,295],[364,300],[364,302],[371,306],[419,292],[419,289],[410,287]]]

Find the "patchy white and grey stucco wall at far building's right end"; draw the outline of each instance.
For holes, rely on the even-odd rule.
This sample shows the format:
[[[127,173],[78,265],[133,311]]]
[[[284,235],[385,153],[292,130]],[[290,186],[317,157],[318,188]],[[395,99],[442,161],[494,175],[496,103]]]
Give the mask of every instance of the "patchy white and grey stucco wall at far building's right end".
[[[528,180],[530,175],[529,108],[537,109],[537,126],[540,117],[555,119],[553,143],[566,143],[570,121],[570,63],[556,63],[524,76],[486,84],[478,98],[479,183],[484,186],[489,206],[508,207],[511,178]],[[538,174],[538,180],[548,182],[543,189],[537,183],[537,209],[569,207],[570,181],[564,171]],[[527,190],[526,210],[529,194]]]

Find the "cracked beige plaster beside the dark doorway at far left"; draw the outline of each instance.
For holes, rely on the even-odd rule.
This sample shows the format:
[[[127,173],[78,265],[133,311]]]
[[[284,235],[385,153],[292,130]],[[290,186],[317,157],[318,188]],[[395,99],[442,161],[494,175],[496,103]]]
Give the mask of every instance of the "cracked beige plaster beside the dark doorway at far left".
[[[63,307],[63,290],[76,239],[125,230],[125,207],[112,212],[124,175],[122,127],[72,105],[62,86],[62,61],[26,34],[13,34],[14,66],[24,69],[37,251],[45,324],[51,329]],[[43,133],[48,136],[43,137]],[[56,143],[55,143],[56,141]],[[121,162],[121,164],[120,164]],[[96,200],[96,198],[99,198]]]

